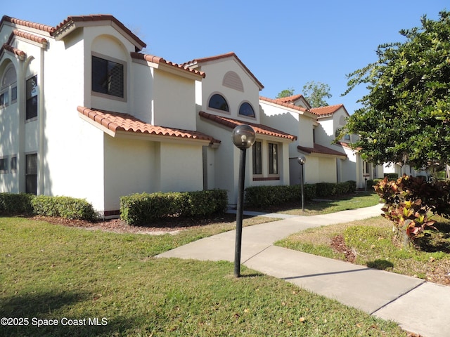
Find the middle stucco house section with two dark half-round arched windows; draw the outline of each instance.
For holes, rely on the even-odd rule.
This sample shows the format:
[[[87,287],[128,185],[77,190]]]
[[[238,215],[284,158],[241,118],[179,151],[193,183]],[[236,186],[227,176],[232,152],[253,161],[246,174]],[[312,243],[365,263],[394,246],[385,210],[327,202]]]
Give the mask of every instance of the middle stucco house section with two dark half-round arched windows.
[[[196,85],[197,129],[221,140],[204,147],[204,186],[228,190],[236,204],[239,150],[231,141],[233,128],[248,124],[256,141],[247,151],[245,187],[289,185],[289,146],[297,136],[264,123],[259,91],[264,88],[235,53],[198,58],[184,63],[207,76]],[[283,130],[283,131],[281,131]]]

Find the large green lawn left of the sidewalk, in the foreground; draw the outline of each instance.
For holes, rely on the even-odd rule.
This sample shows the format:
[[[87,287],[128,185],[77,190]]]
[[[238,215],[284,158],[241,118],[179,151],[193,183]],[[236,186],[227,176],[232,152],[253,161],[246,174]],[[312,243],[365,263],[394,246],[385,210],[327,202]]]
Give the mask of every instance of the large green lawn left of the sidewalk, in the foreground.
[[[28,319],[0,335],[406,336],[245,267],[236,279],[232,263],[153,258],[208,235],[198,231],[117,234],[0,218],[0,316]]]

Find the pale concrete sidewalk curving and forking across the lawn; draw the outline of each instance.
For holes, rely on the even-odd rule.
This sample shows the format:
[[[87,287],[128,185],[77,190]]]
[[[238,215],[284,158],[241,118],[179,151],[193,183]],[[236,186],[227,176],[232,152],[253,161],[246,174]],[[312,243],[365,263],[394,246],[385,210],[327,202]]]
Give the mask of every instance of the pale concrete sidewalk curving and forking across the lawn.
[[[309,227],[379,216],[381,206],[320,216],[295,216],[243,228],[241,263],[304,289],[391,319],[425,337],[450,336],[450,286],[373,270],[274,246],[274,242]],[[158,258],[234,261],[236,231],[200,239]]]

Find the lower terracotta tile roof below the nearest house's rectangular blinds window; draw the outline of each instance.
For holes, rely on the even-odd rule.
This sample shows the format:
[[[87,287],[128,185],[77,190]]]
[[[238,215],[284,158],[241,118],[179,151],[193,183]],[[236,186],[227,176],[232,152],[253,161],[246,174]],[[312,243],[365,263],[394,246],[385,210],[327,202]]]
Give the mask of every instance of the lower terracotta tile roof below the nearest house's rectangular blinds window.
[[[140,119],[131,116],[131,114],[110,112],[105,110],[93,110],[88,107],[77,107],[77,110],[80,114],[83,114],[96,123],[101,124],[101,126],[108,128],[108,130],[113,131],[114,133],[117,131],[126,131],[131,133],[146,133],[148,135],[155,136],[207,140],[210,143],[220,143],[220,140],[205,135],[205,133],[180,128],[155,126],[141,121]]]

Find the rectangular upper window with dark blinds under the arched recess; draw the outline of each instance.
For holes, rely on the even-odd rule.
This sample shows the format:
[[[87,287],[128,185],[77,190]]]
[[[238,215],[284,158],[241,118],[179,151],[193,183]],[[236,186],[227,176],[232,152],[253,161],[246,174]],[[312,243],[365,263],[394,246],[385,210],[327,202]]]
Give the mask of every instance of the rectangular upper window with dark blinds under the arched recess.
[[[92,91],[124,98],[124,65],[93,55]]]

